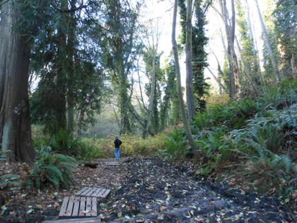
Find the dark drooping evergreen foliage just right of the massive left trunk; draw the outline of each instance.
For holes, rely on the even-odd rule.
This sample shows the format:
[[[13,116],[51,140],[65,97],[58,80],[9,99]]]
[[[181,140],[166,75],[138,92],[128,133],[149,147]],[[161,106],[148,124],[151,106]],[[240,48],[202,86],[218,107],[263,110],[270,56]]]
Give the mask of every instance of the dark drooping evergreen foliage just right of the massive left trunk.
[[[75,0],[70,2],[73,7]],[[95,8],[94,4],[90,6]],[[92,122],[104,95],[104,73],[97,65],[98,53],[85,44],[93,43],[86,32],[86,21],[80,10],[62,12],[68,7],[67,1],[49,1],[48,8],[52,10],[32,44],[30,55],[31,75],[39,79],[30,98],[31,118],[50,135],[61,129],[73,133],[74,110],[79,111],[79,128]],[[95,43],[93,46],[96,47]]]

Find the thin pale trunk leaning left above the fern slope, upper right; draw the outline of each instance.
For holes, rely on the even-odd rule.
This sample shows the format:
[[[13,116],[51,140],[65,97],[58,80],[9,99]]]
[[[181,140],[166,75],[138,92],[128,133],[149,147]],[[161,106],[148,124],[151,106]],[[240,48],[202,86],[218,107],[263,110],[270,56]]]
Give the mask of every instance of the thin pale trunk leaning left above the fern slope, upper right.
[[[267,46],[267,50],[268,50],[268,53],[269,53],[269,56],[270,56],[270,59],[271,59],[271,64],[272,66],[274,67],[274,72],[276,73],[276,81],[280,81],[280,72],[278,70],[278,64],[276,62],[276,57],[274,55],[274,52],[272,51],[272,48],[271,48],[271,43],[269,41],[269,37],[268,37],[268,33],[267,33],[267,30],[266,30],[266,27],[265,27],[265,23],[262,19],[262,14],[260,12],[260,8],[259,8],[259,5],[258,5],[258,0],[255,0],[256,1],[256,7],[257,7],[257,11],[258,11],[258,15],[259,15],[259,19],[260,19],[260,24],[261,24],[261,28],[262,28],[262,32],[263,32],[263,36],[264,36],[264,41],[265,41],[265,44]]]

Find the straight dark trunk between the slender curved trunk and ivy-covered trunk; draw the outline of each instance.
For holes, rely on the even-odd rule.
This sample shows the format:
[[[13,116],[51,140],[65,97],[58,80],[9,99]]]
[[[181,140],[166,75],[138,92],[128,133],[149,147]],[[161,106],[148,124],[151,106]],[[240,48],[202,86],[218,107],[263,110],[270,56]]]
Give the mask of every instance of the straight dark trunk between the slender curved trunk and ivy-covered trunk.
[[[186,102],[189,120],[194,118],[193,64],[192,64],[192,0],[186,1]]]

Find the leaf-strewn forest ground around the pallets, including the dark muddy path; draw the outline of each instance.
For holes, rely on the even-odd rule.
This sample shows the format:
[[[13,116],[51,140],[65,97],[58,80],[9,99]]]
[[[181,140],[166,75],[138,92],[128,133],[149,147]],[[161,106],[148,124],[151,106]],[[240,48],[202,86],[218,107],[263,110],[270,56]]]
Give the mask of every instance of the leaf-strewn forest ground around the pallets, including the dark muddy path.
[[[191,167],[153,157],[121,166],[104,166],[102,160],[97,168],[80,166],[68,191],[1,191],[6,204],[0,222],[57,219],[62,198],[84,186],[112,189],[98,204],[104,222],[297,222],[296,212],[274,197],[199,179]]]

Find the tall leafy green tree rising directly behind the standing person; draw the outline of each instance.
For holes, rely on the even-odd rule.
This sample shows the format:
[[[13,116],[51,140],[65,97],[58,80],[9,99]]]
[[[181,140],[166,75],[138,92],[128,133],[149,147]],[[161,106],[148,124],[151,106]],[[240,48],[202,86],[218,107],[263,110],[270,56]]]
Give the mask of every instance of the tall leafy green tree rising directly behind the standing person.
[[[128,2],[114,0],[106,2],[104,20],[106,29],[104,39],[100,40],[104,68],[111,77],[115,95],[117,95],[120,112],[120,134],[131,133],[133,117],[130,112],[131,95],[128,90],[132,88],[128,81],[133,72],[134,62],[140,54],[141,44],[137,41],[137,10],[131,8]]]

